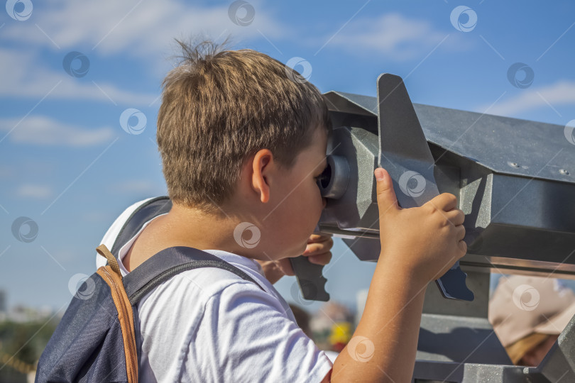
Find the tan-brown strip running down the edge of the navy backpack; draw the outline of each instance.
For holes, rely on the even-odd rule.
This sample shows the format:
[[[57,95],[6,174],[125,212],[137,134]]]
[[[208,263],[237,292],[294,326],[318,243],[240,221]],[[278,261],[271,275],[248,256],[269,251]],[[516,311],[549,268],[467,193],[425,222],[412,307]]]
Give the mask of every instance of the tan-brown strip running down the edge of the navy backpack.
[[[106,246],[99,245],[98,249],[100,248],[105,250],[102,251],[104,254],[108,252],[108,254],[111,255]],[[99,253],[102,254],[102,252]],[[111,257],[114,258],[113,256]],[[106,256],[106,258],[108,257]],[[133,310],[121,280],[120,270],[118,269],[118,273],[116,274],[113,272],[111,265],[112,262],[110,262],[110,265],[100,267],[97,273],[110,287],[111,296],[114,300],[116,311],[118,311],[118,321],[122,331],[122,340],[124,341],[124,356],[126,357],[126,376],[128,377],[128,383],[138,383],[138,352],[136,350],[136,331],[133,324]],[[118,267],[115,258],[114,265]]]

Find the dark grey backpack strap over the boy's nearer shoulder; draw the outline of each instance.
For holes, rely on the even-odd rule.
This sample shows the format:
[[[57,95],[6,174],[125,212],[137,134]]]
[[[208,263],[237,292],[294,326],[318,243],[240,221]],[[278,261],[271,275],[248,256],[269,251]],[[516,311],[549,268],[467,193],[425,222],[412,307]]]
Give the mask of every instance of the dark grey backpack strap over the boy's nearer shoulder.
[[[180,272],[199,267],[217,267],[228,270],[246,281],[253,282],[265,292],[265,289],[246,272],[229,262],[221,260],[209,252],[186,246],[176,246],[158,252],[124,277],[123,282],[128,299],[132,305],[136,305],[143,296],[158,287],[159,284],[176,274],[180,274]]]

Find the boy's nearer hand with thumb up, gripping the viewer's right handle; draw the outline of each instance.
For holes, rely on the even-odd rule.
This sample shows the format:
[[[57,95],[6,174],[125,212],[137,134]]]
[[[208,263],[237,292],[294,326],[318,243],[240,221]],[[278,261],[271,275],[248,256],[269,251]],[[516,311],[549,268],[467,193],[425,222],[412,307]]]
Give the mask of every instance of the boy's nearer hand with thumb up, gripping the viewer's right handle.
[[[407,272],[422,286],[441,277],[467,251],[464,242],[464,213],[456,209],[453,194],[443,193],[411,209],[398,206],[393,182],[387,171],[378,180],[379,235],[378,265]]]

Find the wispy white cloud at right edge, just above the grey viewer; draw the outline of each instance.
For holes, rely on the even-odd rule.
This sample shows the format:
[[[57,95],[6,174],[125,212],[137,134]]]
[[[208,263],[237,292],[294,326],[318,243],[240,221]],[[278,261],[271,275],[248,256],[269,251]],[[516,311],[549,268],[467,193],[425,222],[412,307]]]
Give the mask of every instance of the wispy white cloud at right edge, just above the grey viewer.
[[[517,113],[546,107],[571,104],[575,106],[575,81],[560,80],[551,85],[525,89],[518,96],[512,97],[489,109],[488,113],[500,116],[514,116]],[[488,105],[478,106],[477,111],[485,111]]]

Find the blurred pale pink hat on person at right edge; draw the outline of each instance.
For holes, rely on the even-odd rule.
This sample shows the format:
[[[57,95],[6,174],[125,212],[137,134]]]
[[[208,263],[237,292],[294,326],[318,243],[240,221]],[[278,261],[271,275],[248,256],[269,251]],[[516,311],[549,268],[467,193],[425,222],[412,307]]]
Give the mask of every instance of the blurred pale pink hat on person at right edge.
[[[559,334],[575,315],[575,294],[548,277],[501,277],[489,302],[489,322],[503,347],[532,333]]]

